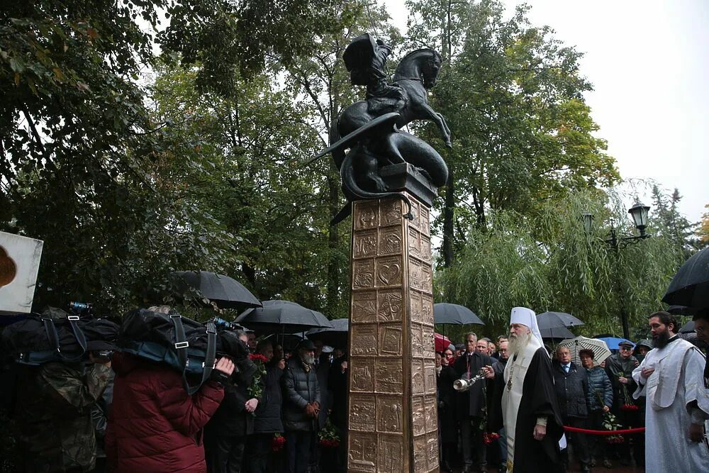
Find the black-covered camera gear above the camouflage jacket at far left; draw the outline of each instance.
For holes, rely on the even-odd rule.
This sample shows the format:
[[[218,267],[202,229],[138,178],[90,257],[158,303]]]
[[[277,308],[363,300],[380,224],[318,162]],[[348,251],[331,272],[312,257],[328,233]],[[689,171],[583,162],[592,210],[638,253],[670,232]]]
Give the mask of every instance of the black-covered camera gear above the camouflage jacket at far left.
[[[31,313],[2,332],[3,351],[23,365],[80,362],[87,351],[113,350],[118,325],[104,318],[82,318],[60,309]]]

